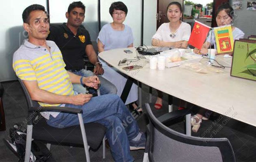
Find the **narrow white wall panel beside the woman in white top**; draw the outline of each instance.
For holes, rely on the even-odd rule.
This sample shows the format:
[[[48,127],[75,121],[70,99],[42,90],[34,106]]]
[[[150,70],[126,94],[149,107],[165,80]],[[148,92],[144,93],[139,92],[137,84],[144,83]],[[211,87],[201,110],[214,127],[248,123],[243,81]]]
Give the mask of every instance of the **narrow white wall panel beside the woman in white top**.
[[[156,0],[144,0],[143,44],[151,45],[152,36],[156,33]]]

